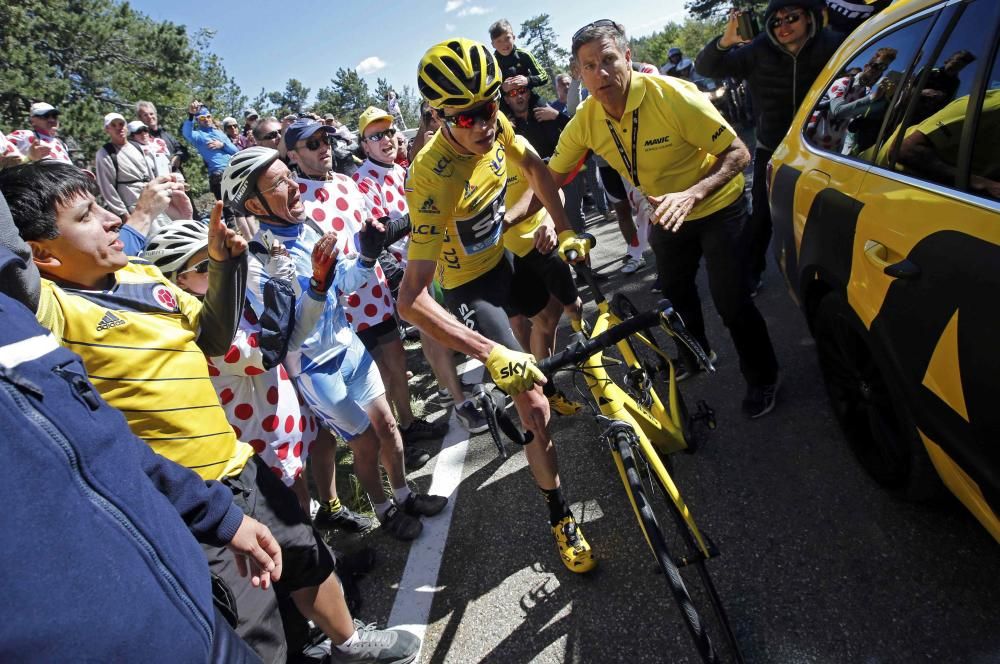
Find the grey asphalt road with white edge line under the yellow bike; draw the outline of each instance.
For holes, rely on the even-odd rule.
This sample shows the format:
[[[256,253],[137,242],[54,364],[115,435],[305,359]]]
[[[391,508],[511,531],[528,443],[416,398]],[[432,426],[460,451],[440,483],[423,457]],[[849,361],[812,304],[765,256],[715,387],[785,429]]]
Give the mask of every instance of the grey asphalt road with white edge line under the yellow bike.
[[[613,224],[591,230],[596,264],[622,255]],[[658,299],[652,265],[628,278],[609,273],[607,291],[640,305]],[[674,475],[722,551],[709,567],[746,660],[1000,661],[997,542],[957,501],[901,502],[864,474],[773,267],[757,304],[783,384],[772,414],[744,420],[735,351],[703,274],[701,291],[719,370],[683,389],[689,404],[714,407],[718,428],[696,454],[675,455]],[[418,398],[430,387],[421,378]],[[568,496],[600,559],[595,572],[562,567],[524,455],[501,462],[487,434],[466,442],[453,423],[440,448],[429,446],[432,462],[411,474],[420,489],[449,494],[449,509],[425,520],[412,545],[365,536],[381,562],[362,583],[360,617],[422,634],[421,662],[697,661],[596,424],[580,414],[556,419],[553,431]]]

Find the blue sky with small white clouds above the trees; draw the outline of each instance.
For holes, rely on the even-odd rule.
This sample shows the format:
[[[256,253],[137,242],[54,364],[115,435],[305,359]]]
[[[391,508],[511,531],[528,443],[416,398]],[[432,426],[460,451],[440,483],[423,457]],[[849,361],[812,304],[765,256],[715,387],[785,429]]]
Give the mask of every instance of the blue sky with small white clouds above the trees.
[[[547,12],[560,43],[598,18],[614,18],[630,35],[642,36],[681,21],[684,0],[631,0],[608,15],[607,2],[568,0],[434,0],[433,2],[236,2],[134,0],[131,6],[157,20],[216,31],[213,51],[222,57],[248,97],[263,87],[282,90],[289,78],[311,88],[330,84],[339,67],[358,68],[369,85],[379,76],[414,86],[417,62],[432,44],[449,36],[489,40],[489,25],[506,18],[515,32],[522,21]],[[378,7],[378,11],[373,11]],[[662,63],[657,63],[662,64]]]

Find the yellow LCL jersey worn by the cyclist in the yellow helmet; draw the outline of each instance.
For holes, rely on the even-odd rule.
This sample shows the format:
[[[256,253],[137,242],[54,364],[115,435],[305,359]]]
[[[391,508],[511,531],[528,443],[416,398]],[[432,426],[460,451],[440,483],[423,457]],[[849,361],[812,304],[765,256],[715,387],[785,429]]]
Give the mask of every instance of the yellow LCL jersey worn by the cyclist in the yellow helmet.
[[[436,261],[442,288],[472,281],[503,257],[507,159],[520,162],[525,149],[514,139],[510,121],[499,113],[496,139],[486,154],[459,154],[438,131],[410,164],[407,260]]]

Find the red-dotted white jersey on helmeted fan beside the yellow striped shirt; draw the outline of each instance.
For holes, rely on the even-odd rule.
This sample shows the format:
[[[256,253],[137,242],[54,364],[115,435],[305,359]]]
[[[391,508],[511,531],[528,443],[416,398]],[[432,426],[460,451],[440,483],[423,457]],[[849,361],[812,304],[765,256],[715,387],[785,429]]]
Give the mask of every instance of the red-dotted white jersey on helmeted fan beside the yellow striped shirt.
[[[264,368],[259,339],[259,319],[247,304],[229,350],[209,358],[208,374],[236,436],[291,486],[319,429],[285,367]]]

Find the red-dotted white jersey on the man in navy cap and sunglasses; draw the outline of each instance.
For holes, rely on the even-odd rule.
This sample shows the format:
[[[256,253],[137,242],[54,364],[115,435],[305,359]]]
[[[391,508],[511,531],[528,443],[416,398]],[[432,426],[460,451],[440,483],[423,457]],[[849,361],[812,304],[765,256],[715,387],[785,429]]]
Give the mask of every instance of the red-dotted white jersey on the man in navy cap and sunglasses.
[[[333,179],[329,181],[306,180],[302,177],[297,179],[306,217],[315,221],[323,232],[337,232],[337,249],[340,255],[357,258],[358,231],[366,218],[374,216],[358,185],[339,173],[334,173]],[[396,207],[402,205],[405,212],[406,202],[403,197],[394,199],[398,201]],[[396,303],[389,291],[385,273],[378,264],[375,265],[374,279],[366,281],[354,292],[343,293],[338,290],[337,295],[344,307],[347,322],[356,332],[393,319]]]

